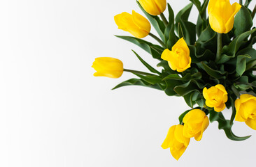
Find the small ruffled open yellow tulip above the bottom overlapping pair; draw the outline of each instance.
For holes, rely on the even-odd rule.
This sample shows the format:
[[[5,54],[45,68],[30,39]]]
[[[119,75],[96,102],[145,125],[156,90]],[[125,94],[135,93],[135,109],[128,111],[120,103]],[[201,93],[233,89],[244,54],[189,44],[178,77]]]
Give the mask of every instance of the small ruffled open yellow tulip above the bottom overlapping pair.
[[[227,90],[221,84],[212,86],[203,90],[204,98],[206,99],[206,106],[214,107],[216,112],[220,112],[226,108]]]

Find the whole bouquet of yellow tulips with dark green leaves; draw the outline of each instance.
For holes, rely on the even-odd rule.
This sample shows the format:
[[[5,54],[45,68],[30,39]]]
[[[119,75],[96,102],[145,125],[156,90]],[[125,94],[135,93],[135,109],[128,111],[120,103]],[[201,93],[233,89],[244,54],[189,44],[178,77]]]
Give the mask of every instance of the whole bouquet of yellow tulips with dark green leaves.
[[[138,45],[159,61],[158,69],[134,54],[150,72],[127,70],[116,58],[96,58],[94,76],[118,78],[131,72],[138,78],[122,82],[122,86],[146,86],[164,91],[169,96],[183,97],[190,110],[178,118],[180,124],[170,127],[162,148],[170,148],[179,159],[190,143],[200,141],[209,122],[217,121],[227,138],[243,141],[250,136],[232,132],[234,120],[246,122],[256,130],[256,29],[252,0],[231,4],[229,0],[190,0],[175,16],[166,0],[138,0],[146,19],[134,10],[115,16],[119,29],[131,36],[117,36]],[[188,21],[190,10],[198,10],[197,24]],[[166,19],[163,12],[168,10]],[[208,15],[207,15],[208,11]],[[151,26],[157,35],[150,33]],[[150,35],[159,43],[142,40]],[[231,118],[222,111],[230,109]]]

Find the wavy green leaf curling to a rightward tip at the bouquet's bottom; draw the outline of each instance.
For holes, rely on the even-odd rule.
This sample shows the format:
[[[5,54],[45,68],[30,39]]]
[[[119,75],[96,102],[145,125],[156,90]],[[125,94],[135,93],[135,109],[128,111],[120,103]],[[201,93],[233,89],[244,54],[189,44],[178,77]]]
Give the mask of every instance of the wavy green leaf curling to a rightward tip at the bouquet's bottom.
[[[215,112],[213,110],[210,111],[210,121],[218,121],[219,123],[219,129],[223,129],[227,138],[229,138],[232,141],[244,141],[250,136],[244,136],[244,137],[239,137],[233,134],[232,132],[232,125],[230,124],[230,120],[226,120],[225,117],[222,115],[222,113]]]

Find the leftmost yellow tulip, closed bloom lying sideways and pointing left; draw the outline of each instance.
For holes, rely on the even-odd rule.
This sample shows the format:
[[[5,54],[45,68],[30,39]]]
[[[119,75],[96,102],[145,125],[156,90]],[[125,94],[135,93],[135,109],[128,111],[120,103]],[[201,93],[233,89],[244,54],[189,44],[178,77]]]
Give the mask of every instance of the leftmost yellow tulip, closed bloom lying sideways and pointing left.
[[[120,61],[118,58],[95,58],[92,67],[97,71],[94,73],[95,77],[119,78],[124,72],[122,61]]]

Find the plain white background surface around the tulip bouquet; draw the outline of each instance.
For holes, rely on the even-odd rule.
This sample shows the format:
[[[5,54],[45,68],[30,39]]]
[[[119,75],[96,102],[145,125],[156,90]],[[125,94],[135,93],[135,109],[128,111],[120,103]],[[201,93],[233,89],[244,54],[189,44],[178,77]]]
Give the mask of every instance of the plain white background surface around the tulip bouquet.
[[[169,1],[175,13],[189,2]],[[146,71],[131,49],[157,64],[142,49],[113,36],[129,35],[113,17],[133,9],[142,14],[135,0],[0,2],[0,166],[255,164],[256,132],[244,122],[235,122],[234,133],[252,134],[247,141],[230,141],[213,122],[176,161],[160,145],[189,109],[183,98],[138,86],[111,90],[134,77],[127,73],[120,79],[92,76],[92,62],[99,56]],[[192,13],[195,22],[194,7]]]

